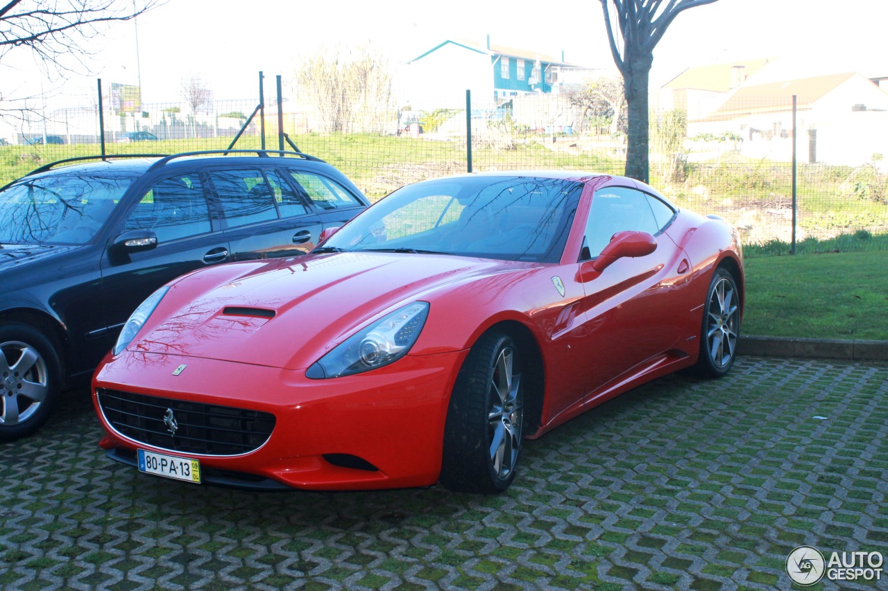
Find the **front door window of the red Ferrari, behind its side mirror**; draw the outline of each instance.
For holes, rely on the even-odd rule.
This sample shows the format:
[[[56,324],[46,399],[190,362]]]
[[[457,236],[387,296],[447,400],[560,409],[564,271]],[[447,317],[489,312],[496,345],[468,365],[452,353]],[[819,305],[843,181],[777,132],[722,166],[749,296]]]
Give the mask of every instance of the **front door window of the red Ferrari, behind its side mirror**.
[[[596,191],[586,222],[581,259],[599,256],[614,234],[623,230],[651,234],[660,231],[647,195],[626,187],[609,186]]]

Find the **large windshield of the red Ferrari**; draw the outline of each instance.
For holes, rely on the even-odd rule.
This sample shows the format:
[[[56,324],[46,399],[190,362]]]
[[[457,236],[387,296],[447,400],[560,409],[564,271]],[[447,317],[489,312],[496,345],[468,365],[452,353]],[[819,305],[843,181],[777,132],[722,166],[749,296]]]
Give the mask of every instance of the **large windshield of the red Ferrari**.
[[[325,247],[557,263],[583,185],[543,177],[453,177],[407,185]]]

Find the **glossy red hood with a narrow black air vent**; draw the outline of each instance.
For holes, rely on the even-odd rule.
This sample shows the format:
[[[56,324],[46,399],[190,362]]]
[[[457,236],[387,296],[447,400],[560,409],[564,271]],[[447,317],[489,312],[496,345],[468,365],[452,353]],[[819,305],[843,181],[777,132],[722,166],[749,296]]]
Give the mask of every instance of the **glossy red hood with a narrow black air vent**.
[[[431,302],[445,286],[531,266],[394,253],[222,265],[175,283],[128,348],[301,369],[400,305]],[[203,277],[224,271],[221,284]]]

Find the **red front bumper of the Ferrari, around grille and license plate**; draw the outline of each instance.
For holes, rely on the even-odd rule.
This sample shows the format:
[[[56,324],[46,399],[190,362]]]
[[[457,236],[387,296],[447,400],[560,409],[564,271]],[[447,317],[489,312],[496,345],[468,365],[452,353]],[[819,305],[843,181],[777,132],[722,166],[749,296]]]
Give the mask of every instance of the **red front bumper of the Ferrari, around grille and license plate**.
[[[304,369],[123,351],[108,356],[93,378],[93,404],[107,433],[99,445],[123,463],[134,464],[139,448],[194,458],[201,461],[203,482],[240,488],[432,485],[440,474],[450,392],[467,353],[408,355],[364,374],[310,380]],[[160,447],[115,430],[99,405],[99,389],[234,406],[274,414],[276,421],[266,443],[252,452],[181,453],[173,437]]]

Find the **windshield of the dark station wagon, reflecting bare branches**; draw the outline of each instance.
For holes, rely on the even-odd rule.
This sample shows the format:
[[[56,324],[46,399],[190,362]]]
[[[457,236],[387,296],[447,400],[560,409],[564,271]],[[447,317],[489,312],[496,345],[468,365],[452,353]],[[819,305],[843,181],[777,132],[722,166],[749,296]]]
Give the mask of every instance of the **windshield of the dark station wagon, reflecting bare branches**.
[[[0,192],[0,242],[85,244],[135,178],[83,173],[25,177]]]

